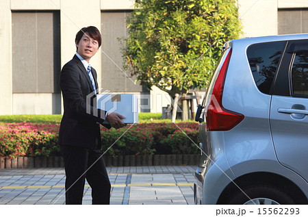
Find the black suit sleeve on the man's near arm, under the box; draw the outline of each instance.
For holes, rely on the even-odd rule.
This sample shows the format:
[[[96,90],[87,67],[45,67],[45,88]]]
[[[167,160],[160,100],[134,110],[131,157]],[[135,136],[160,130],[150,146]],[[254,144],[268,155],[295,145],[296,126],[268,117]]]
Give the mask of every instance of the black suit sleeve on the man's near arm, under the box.
[[[75,64],[66,64],[62,68],[60,88],[63,97],[66,97],[66,102],[68,102],[68,106],[73,113],[103,124],[106,112],[93,106],[96,105],[96,103],[92,102],[95,96],[91,97],[90,94],[84,96],[86,90],[83,90],[81,83],[84,82],[86,84],[87,81],[81,81],[83,78],[81,78],[82,76],[79,71],[78,66]]]

